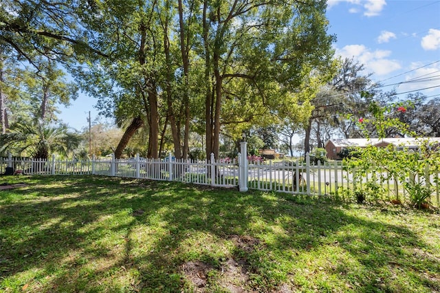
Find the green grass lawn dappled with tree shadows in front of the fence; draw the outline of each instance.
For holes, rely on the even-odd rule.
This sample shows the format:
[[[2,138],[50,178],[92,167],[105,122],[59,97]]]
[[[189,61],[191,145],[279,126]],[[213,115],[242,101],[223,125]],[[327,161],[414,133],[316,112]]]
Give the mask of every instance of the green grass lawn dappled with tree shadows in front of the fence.
[[[2,177],[1,292],[440,292],[440,214],[109,177]]]

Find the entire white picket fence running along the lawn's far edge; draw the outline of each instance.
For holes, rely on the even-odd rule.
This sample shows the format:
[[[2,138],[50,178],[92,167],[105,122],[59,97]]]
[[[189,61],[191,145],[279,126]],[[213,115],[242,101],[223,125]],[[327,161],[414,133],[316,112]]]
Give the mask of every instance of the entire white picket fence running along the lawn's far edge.
[[[246,144],[241,146],[241,153],[246,153]],[[175,160],[168,155],[164,160],[131,158],[128,160],[88,161],[36,160],[32,158],[0,158],[0,173],[23,171],[28,175],[105,175],[113,177],[133,177],[147,180],[177,181],[219,187],[238,187],[240,191],[248,188],[261,191],[340,197],[349,192],[368,190],[370,196],[382,200],[408,197],[399,182],[381,173],[364,173],[349,170],[342,162],[313,164],[306,156],[305,162],[267,161],[250,162],[247,155],[238,156],[238,160]],[[428,172],[428,171],[427,171]],[[411,177],[412,176],[412,177]],[[430,185],[433,188],[431,202],[440,206],[440,175],[426,173],[423,176],[408,174],[415,182]],[[428,181],[428,182],[425,182]]]

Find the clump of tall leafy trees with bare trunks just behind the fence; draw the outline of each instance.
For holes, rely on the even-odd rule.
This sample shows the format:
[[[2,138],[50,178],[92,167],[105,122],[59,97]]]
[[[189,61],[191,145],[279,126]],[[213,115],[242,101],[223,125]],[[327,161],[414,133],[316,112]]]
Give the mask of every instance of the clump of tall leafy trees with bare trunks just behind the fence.
[[[144,127],[147,156],[157,158],[170,127],[177,157],[196,129],[217,157],[221,133],[239,138],[251,124],[309,111],[305,85],[331,67],[326,5],[4,1],[0,45],[36,68],[45,56],[71,70],[102,113],[128,125],[117,155]]]

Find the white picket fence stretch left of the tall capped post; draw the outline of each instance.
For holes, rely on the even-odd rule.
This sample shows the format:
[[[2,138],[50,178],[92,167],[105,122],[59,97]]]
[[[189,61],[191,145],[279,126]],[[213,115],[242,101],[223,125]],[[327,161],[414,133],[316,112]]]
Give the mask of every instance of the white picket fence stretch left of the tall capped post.
[[[175,160],[171,155],[165,160],[96,159],[87,161],[41,160],[33,158],[0,158],[0,173],[7,169],[19,170],[26,175],[105,175],[146,180],[178,181],[218,187],[239,186],[239,164],[236,160],[210,161]]]

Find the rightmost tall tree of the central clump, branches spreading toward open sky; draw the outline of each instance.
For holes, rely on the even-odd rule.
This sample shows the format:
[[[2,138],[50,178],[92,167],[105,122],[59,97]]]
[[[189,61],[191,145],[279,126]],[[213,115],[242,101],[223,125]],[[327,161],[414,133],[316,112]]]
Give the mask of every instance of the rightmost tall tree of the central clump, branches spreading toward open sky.
[[[329,65],[325,8],[325,1],[203,1],[207,155],[218,155],[223,94],[231,80],[256,87],[270,105],[271,81],[281,84],[281,97],[312,69]]]

